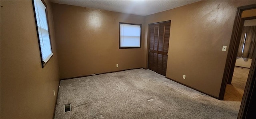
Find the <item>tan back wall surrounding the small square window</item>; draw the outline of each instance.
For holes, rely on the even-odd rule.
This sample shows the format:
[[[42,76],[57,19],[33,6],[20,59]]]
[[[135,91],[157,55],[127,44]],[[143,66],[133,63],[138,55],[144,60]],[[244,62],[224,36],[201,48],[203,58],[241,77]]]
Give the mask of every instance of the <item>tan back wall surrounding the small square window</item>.
[[[143,66],[144,34],[142,48],[119,49],[119,22],[143,24],[143,16],[52,5],[60,78]]]

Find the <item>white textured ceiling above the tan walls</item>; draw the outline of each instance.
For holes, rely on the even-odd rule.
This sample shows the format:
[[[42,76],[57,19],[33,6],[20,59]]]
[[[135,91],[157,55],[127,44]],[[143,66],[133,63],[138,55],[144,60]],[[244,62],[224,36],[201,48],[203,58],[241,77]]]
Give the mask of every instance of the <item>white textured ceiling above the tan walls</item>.
[[[198,0],[53,0],[52,2],[147,16]]]

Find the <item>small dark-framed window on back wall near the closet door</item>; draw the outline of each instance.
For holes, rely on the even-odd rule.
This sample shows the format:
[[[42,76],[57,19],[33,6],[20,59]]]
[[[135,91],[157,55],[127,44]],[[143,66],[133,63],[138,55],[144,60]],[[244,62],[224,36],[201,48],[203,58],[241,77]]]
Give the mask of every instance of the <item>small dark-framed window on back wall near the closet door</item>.
[[[141,24],[119,23],[119,49],[141,48]]]

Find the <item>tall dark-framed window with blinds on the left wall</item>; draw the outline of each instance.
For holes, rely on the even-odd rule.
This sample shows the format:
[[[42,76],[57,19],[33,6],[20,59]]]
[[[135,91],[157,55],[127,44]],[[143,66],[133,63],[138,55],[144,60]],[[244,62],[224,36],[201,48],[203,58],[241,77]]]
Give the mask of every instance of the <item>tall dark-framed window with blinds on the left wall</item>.
[[[47,9],[44,1],[32,0],[34,7],[34,15],[36,22],[36,30],[38,36],[38,43],[41,54],[42,67],[44,67],[52,57],[52,48],[50,42],[50,32],[47,19]]]

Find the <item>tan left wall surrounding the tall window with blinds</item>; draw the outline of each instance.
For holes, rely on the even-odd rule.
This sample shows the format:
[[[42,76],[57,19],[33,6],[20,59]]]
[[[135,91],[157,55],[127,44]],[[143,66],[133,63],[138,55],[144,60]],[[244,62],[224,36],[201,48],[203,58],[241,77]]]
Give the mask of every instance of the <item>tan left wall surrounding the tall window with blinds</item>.
[[[1,1],[1,119],[52,119],[59,73],[48,6],[53,57],[41,66],[32,1]]]

